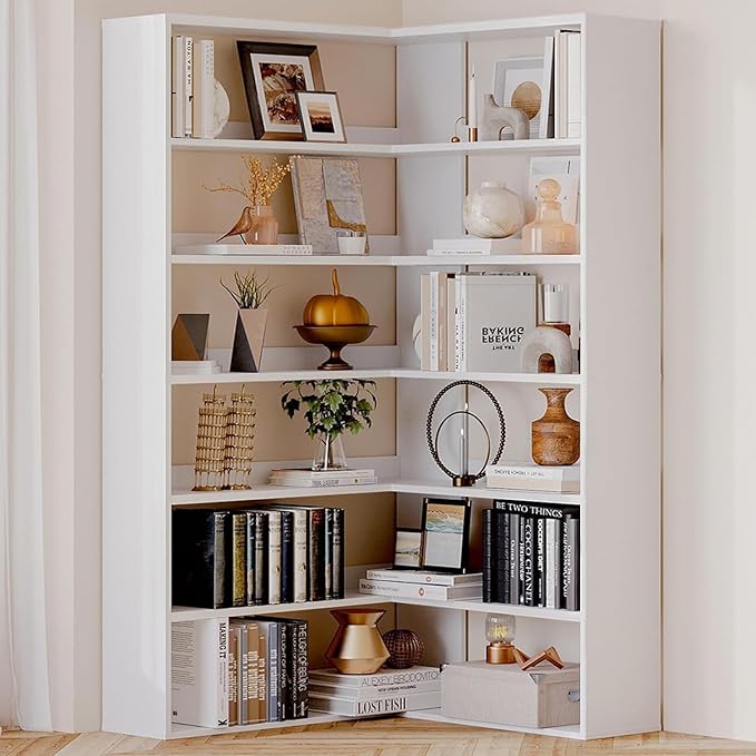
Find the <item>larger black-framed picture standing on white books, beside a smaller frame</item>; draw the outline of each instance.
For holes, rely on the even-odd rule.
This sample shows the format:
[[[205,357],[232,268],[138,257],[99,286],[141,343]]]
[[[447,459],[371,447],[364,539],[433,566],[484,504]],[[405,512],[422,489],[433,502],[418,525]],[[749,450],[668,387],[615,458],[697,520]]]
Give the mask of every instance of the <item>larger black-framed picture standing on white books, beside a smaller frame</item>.
[[[467,570],[469,499],[424,499],[422,531],[423,569],[436,572]]]

